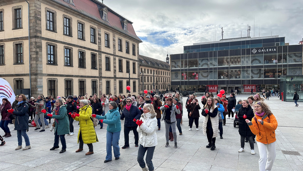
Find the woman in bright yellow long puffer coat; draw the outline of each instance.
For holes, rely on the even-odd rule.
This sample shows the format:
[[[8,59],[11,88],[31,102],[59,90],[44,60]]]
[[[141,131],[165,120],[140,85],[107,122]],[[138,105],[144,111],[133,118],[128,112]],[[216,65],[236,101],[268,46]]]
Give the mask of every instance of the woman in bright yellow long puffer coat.
[[[72,114],[72,118],[80,122],[80,128],[78,132],[78,143],[79,149],[76,152],[83,150],[83,143],[87,144],[89,151],[85,155],[93,154],[92,143],[98,142],[98,138],[95,132],[94,124],[91,119],[92,107],[88,105],[87,100],[80,100],[80,111],[79,113]]]

